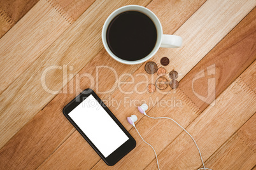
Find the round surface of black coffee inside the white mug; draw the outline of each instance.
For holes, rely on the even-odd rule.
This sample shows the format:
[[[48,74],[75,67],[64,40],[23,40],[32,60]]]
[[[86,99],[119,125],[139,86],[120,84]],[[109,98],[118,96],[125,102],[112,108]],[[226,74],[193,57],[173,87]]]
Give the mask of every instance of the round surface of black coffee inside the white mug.
[[[147,56],[155,47],[157,29],[145,14],[127,11],[111,21],[106,40],[118,58],[135,61]]]

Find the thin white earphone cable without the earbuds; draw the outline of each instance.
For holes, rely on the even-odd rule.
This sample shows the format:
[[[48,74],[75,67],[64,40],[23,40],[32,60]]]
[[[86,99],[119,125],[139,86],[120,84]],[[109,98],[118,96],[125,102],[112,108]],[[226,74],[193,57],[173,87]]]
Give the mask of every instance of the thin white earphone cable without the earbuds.
[[[178,122],[174,121],[173,119],[171,119],[171,118],[169,118],[169,117],[151,117],[151,116],[149,116],[149,115],[147,115],[147,114],[145,114],[145,115],[146,115],[147,117],[152,118],[152,119],[170,119],[171,121],[173,121],[173,122],[175,122],[176,124],[178,124]],[[200,152],[200,150],[199,150],[199,147],[197,146],[197,143],[196,143],[196,141],[194,140],[194,138],[191,136],[191,134],[188,133],[188,131],[186,131],[186,129],[183,128],[180,124],[178,124],[178,126],[180,126],[180,128],[183,129],[183,130],[192,138],[192,140],[193,140],[194,143],[196,144],[197,150],[198,150],[198,152],[199,152],[199,155],[200,155],[200,158],[201,158],[201,161],[202,161],[202,164],[203,164],[203,167],[202,167],[202,168],[199,168],[199,169],[197,169],[197,170],[201,170],[201,169],[204,169],[204,170],[206,170],[206,169],[212,170],[212,169],[207,168],[207,167],[204,166],[204,160],[203,160],[203,157],[202,157],[201,152]],[[136,129],[136,131],[137,131],[138,134],[139,134],[139,131],[137,130],[137,128],[136,128],[135,126],[134,126],[134,128]],[[141,136],[141,134],[139,134],[139,136]],[[146,144],[150,145],[149,143],[147,143],[147,142],[142,138],[142,136],[141,136],[141,139],[142,139]],[[150,147],[152,147],[152,145],[150,145]],[[152,147],[152,148],[153,148],[153,147]],[[153,152],[155,152],[155,149],[154,149],[154,148],[153,148]],[[155,152],[155,157],[156,157],[156,159],[157,159],[157,153],[156,153],[156,152]],[[158,166],[158,169],[160,170],[158,159],[157,159],[157,166]]]

